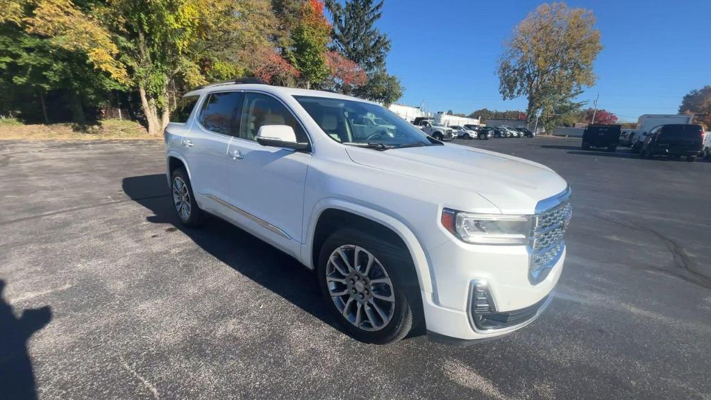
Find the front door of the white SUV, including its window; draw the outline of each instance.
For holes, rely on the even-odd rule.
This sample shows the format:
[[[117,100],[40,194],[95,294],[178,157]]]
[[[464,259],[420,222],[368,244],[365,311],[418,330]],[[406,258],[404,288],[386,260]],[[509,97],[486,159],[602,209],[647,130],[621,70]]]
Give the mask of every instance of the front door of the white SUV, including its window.
[[[228,149],[229,201],[242,221],[259,236],[299,256],[304,214],[304,185],[311,153],[262,146],[256,137],[264,125],[289,125],[299,142],[308,137],[292,112],[277,98],[245,93],[239,137]]]

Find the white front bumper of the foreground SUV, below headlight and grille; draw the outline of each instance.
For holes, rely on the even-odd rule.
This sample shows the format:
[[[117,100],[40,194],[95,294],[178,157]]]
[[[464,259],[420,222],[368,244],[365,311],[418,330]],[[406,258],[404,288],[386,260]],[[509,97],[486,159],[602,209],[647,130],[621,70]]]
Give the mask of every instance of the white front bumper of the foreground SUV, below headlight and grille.
[[[429,258],[435,268],[431,270],[434,293],[422,292],[427,330],[457,340],[481,341],[506,335],[540,317],[562,273],[565,248],[538,283],[529,280],[525,246],[449,241],[429,251]],[[483,324],[476,321],[473,311],[473,292],[482,284],[491,298],[491,318]]]

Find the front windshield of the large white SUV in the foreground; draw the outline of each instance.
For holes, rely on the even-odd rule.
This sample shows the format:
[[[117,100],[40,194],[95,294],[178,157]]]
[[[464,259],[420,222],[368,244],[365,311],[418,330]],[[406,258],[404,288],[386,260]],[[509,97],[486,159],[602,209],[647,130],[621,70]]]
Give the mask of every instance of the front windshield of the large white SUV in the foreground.
[[[377,144],[383,149],[440,144],[380,105],[311,96],[294,96],[294,98],[319,124],[319,127],[336,142]]]

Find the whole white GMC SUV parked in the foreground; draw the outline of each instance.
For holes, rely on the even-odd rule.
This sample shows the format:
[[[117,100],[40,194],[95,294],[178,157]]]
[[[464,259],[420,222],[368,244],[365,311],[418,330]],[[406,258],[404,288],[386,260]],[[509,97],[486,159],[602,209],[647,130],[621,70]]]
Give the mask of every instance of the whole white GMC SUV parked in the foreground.
[[[443,144],[373,102],[260,84],[187,93],[165,140],[181,221],[220,216],[314,270],[358,340],[488,340],[552,299],[570,189],[541,164]]]

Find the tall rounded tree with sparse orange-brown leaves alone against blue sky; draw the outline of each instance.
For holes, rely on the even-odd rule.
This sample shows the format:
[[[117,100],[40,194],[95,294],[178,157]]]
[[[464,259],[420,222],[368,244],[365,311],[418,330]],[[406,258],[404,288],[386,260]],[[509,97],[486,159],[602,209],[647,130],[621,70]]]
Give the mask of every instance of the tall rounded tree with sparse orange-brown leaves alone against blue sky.
[[[565,3],[541,4],[513,31],[498,60],[499,91],[504,100],[525,95],[526,115],[546,118],[565,108],[582,88],[595,82],[592,65],[602,50],[592,11]]]

